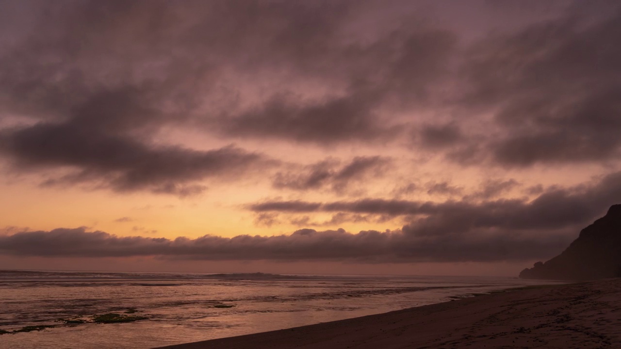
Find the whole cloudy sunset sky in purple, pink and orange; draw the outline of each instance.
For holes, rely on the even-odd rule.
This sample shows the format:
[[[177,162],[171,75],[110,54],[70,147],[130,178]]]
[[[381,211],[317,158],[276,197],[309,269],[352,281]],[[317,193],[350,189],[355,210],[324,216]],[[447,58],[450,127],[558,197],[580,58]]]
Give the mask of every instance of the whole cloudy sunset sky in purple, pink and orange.
[[[618,1],[0,0],[0,268],[517,276],[621,203]]]

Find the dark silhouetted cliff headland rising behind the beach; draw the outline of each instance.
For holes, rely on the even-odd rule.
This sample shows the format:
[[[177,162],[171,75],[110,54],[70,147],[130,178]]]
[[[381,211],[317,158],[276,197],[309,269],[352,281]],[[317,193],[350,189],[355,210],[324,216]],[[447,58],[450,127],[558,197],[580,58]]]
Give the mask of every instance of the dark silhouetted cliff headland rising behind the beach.
[[[621,205],[582,229],[560,255],[522,270],[523,279],[592,280],[621,276]]]

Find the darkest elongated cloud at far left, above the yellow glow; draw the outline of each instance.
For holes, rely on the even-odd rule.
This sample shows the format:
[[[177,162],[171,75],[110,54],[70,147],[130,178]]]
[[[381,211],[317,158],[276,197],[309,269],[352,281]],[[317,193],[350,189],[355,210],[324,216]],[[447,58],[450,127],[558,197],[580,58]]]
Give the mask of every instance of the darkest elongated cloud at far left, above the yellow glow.
[[[79,118],[0,134],[0,153],[22,170],[73,169],[47,184],[101,183],[116,191],[147,189],[179,196],[201,193],[204,187],[196,184],[201,179],[230,178],[262,162],[260,155],[235,147],[197,151],[152,146],[106,133],[99,125],[83,125]]]

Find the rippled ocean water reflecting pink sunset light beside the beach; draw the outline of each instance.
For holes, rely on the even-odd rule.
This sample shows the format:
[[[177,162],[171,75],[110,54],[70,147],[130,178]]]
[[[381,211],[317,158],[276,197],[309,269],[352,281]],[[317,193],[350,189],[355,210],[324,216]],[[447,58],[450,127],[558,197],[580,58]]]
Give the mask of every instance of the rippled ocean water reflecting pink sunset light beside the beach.
[[[148,349],[378,314],[541,283],[550,281],[0,270],[0,333],[4,333],[0,348]],[[120,316],[108,315],[108,320],[146,319],[94,322],[106,319],[97,316],[110,313]]]

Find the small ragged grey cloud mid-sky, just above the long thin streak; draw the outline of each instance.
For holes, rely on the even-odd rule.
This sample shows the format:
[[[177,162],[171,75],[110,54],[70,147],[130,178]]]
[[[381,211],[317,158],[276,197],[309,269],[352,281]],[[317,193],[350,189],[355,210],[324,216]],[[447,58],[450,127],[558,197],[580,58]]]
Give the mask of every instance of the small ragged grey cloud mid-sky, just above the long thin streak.
[[[329,187],[342,194],[353,182],[383,176],[390,164],[391,159],[383,156],[356,156],[344,165],[335,160],[321,161],[301,171],[276,173],[273,186],[297,191]]]

